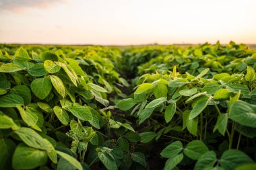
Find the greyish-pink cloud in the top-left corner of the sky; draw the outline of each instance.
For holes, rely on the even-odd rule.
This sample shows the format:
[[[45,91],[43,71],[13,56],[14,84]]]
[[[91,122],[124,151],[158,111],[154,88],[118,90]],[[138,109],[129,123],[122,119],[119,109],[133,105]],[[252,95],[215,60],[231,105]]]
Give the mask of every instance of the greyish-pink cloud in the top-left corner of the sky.
[[[0,10],[22,12],[26,9],[48,9],[66,0],[0,0]]]

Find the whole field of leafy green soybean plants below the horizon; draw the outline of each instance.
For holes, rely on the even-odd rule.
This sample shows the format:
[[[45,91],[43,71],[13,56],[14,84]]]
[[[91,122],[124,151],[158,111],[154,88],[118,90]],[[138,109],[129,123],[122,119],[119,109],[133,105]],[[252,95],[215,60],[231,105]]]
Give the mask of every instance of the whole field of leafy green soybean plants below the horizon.
[[[0,49],[0,169],[256,169],[245,44]]]

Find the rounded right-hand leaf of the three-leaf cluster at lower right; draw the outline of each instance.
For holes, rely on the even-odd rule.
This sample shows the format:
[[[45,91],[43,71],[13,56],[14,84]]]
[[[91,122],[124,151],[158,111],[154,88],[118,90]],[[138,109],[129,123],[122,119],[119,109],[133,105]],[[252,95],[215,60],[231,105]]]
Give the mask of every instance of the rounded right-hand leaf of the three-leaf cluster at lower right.
[[[189,142],[189,144],[187,144],[187,146],[184,148],[185,155],[193,160],[199,159],[199,157],[201,157],[201,155],[207,151],[207,146],[205,146],[201,140],[193,140],[192,142]]]

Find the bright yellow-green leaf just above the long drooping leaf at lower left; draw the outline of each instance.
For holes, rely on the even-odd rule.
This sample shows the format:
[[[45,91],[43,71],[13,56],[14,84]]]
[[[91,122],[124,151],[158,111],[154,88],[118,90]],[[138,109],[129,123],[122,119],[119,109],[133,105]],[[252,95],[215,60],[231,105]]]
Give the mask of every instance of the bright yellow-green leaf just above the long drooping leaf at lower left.
[[[22,117],[22,120],[24,120],[24,122],[28,124],[28,126],[36,125],[36,122],[38,121],[38,116],[34,112],[27,112],[24,110],[24,108],[22,108],[19,105],[17,106],[17,109],[20,112],[20,116]]]

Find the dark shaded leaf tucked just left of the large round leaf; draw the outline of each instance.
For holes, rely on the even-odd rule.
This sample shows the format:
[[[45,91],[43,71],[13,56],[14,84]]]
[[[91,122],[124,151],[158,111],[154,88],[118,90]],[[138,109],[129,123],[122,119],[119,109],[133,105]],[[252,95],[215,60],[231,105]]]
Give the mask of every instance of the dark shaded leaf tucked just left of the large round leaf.
[[[16,85],[12,90],[22,96],[25,105],[31,103],[31,91],[26,85]]]

